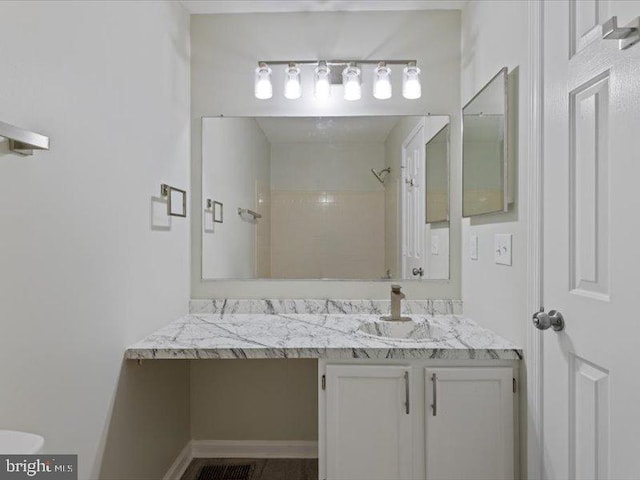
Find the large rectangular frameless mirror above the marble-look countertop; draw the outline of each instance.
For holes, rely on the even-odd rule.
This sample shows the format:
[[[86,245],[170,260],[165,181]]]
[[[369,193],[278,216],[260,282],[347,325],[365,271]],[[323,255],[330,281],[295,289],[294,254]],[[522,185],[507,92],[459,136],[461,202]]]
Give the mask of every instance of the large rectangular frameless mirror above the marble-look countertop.
[[[448,279],[449,117],[202,120],[202,276]]]

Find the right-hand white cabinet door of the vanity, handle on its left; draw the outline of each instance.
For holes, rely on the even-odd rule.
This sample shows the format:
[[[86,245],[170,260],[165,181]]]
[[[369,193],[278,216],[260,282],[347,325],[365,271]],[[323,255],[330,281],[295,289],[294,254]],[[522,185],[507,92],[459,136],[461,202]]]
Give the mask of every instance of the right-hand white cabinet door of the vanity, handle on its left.
[[[514,478],[511,368],[425,374],[427,480]]]

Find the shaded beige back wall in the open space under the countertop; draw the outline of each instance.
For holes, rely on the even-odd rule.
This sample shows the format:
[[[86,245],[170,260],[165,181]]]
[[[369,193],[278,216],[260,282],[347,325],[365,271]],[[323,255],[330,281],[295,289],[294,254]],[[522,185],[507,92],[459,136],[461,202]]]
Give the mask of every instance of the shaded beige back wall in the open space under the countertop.
[[[316,360],[216,360],[191,367],[194,440],[318,441]]]

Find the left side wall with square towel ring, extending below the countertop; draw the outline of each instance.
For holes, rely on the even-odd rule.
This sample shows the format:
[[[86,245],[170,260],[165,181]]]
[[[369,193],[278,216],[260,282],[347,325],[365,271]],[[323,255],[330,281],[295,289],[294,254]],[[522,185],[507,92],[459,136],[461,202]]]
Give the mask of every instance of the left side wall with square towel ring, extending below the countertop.
[[[0,428],[77,453],[80,479],[161,478],[188,364],[123,353],[187,308],[189,219],[152,228],[151,207],[189,187],[189,17],[2,2],[0,51],[0,120],[51,136],[32,157],[0,142]]]

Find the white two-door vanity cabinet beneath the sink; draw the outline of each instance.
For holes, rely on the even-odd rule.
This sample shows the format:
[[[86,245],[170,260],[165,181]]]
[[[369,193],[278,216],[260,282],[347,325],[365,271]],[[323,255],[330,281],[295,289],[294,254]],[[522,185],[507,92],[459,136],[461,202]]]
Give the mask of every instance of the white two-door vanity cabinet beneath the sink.
[[[321,360],[319,374],[320,480],[516,476],[515,362]]]

